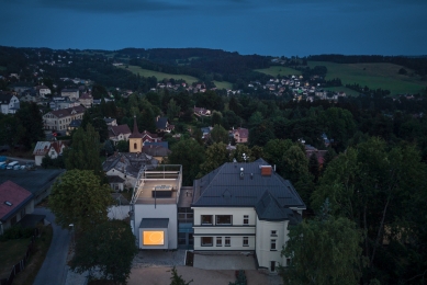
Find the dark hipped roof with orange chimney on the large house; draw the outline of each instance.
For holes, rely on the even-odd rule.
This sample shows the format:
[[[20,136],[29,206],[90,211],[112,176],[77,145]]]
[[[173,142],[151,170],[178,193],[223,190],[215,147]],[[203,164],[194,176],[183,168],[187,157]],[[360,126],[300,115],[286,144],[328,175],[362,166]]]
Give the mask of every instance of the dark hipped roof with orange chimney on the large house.
[[[269,164],[262,159],[250,163],[224,163],[194,181],[192,206],[255,207],[266,219],[290,219],[283,210],[305,208],[305,204],[290,181],[274,171],[271,175],[261,175],[261,167],[266,166]]]

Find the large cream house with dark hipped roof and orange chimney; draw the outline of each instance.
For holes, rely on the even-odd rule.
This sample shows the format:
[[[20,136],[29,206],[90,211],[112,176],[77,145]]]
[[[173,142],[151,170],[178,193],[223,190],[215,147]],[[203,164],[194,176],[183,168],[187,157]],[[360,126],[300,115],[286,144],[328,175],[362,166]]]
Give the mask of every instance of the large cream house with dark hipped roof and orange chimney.
[[[281,249],[306,208],[265,160],[228,162],[193,183],[194,252],[255,254],[259,269],[288,265]]]

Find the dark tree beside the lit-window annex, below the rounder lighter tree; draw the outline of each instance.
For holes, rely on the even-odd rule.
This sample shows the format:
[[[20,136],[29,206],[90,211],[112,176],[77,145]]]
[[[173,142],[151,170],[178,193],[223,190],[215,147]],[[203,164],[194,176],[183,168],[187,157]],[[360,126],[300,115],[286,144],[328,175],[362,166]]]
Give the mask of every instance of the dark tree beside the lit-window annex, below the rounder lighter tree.
[[[137,252],[130,225],[123,220],[108,220],[85,231],[77,240],[70,267],[80,274],[99,270],[104,280],[126,284]]]

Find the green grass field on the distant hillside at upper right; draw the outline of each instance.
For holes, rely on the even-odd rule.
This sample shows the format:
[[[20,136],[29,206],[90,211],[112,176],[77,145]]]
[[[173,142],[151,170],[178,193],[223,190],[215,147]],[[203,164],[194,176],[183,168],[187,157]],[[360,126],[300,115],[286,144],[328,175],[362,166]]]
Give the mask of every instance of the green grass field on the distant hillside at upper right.
[[[326,79],[339,78],[342,86],[358,83],[370,89],[390,90],[392,95],[418,93],[427,87],[419,77],[398,75],[401,66],[393,64],[335,64],[326,61],[308,61],[310,67],[326,66]],[[411,75],[413,70],[405,68]]]

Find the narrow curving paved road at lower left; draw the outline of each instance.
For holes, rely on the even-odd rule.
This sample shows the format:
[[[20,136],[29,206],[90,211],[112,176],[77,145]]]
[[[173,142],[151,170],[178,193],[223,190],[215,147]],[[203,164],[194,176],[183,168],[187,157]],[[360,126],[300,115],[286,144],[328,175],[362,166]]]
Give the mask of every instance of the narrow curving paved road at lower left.
[[[46,259],[35,277],[33,285],[63,285],[67,277],[66,260],[70,242],[70,232],[61,229],[55,224],[55,216],[49,209],[37,207],[34,214],[46,215],[46,219],[52,223],[54,237]]]

